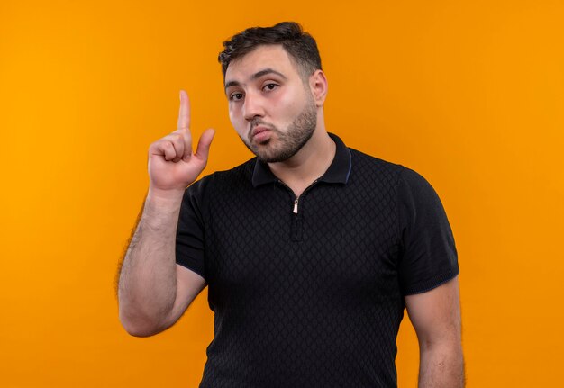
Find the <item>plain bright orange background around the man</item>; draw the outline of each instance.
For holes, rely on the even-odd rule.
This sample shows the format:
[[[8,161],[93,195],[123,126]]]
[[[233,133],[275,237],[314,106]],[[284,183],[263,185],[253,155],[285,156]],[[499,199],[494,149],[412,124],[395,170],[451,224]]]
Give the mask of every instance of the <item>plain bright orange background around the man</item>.
[[[327,127],[412,167],[459,249],[468,387],[564,381],[564,3],[194,1],[0,3],[0,386],[196,386],[206,293],[154,338],[121,328],[118,258],[148,185],[151,141],[214,127],[207,172],[250,158],[217,53],[251,25],[317,39]],[[397,367],[414,387],[405,320]]]

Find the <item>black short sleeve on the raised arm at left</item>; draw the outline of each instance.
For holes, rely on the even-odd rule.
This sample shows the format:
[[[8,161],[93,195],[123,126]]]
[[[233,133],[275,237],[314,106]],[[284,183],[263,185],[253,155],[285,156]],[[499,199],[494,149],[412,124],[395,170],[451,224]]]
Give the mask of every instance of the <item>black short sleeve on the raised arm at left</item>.
[[[177,226],[177,264],[205,278],[205,240],[202,199],[207,179],[186,188]]]

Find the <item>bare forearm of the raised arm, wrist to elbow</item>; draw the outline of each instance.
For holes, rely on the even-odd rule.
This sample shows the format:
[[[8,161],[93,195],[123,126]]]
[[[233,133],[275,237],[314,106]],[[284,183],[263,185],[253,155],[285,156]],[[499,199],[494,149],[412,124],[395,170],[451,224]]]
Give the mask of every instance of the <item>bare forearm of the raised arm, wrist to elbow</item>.
[[[182,193],[147,195],[119,277],[120,320],[133,335],[164,329],[177,294],[175,244]]]

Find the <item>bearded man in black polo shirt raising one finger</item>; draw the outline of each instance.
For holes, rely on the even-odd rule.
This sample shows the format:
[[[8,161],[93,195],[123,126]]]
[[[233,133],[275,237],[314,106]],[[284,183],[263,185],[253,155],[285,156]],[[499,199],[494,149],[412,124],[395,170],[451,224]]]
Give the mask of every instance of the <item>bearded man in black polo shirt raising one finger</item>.
[[[394,387],[406,307],[419,386],[463,386],[459,267],[432,187],[325,130],[327,80],[298,24],[224,46],[231,122],[257,158],[196,182],[214,131],[193,153],[181,92],[177,131],[149,149],[120,275],[125,329],[167,329],[207,285],[214,340],[201,387]]]

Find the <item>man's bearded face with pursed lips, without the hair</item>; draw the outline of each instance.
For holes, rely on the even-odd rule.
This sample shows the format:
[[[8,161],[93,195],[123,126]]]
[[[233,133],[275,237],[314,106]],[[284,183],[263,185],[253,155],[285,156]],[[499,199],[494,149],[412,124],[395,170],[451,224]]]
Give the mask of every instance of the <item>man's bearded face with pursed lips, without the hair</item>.
[[[235,131],[265,162],[293,157],[314,133],[314,98],[282,46],[259,46],[233,60],[225,72],[225,94]]]

